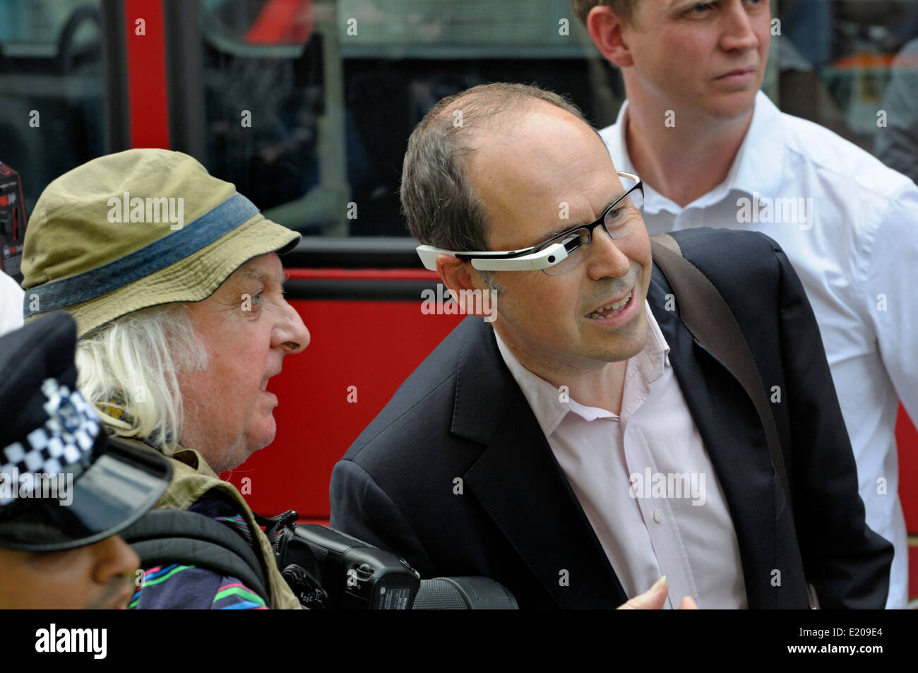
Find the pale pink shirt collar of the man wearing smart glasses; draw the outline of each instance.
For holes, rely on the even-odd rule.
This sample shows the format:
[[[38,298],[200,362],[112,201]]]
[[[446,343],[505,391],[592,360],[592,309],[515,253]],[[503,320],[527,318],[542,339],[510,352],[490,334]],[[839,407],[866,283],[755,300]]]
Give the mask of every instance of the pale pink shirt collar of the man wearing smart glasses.
[[[644,342],[644,348],[640,353],[634,355],[628,362],[628,369],[625,372],[625,380],[635,376],[633,372],[644,376],[648,384],[653,383],[660,376],[663,376],[664,368],[669,366],[669,344],[660,331],[656,322],[650,304],[644,300],[644,313],[647,316],[647,341]],[[541,376],[536,376],[520,364],[513,353],[510,352],[507,344],[500,339],[498,332],[494,331],[494,338],[498,342],[500,356],[510,370],[510,374],[520,386],[523,397],[529,403],[530,409],[538,421],[546,437],[550,437],[564,421],[568,411],[577,413],[586,421],[594,421],[598,418],[618,418],[608,409],[599,407],[588,407],[580,404],[577,400],[567,395],[567,401],[561,401],[565,398],[562,391],[554,387]]]

